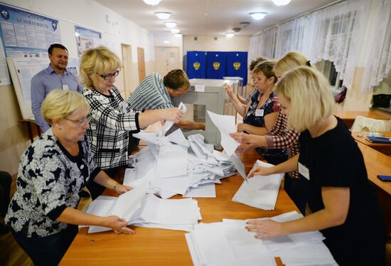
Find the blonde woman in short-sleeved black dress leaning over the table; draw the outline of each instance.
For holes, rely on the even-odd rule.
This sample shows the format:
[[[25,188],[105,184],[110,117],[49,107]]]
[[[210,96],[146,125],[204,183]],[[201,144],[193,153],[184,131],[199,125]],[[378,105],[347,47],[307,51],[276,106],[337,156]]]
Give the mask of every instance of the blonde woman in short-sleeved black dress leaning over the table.
[[[308,66],[294,68],[276,91],[290,124],[301,131],[300,154],[249,176],[296,171],[309,180],[311,214],[284,223],[247,222],[256,238],[321,230],[338,265],[385,265],[386,230],[363,154],[341,119],[333,115],[326,78]],[[303,108],[303,106],[305,106]]]

